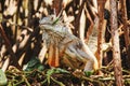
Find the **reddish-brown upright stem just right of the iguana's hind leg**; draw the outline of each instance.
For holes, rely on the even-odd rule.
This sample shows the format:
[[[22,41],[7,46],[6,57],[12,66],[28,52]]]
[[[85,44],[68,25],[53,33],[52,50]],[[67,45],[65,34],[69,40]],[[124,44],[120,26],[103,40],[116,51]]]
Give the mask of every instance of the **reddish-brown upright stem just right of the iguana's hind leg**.
[[[102,44],[104,41],[104,4],[105,0],[99,0],[99,17],[100,17],[100,23],[99,23],[99,34],[98,34],[98,61],[99,61],[99,68],[102,67],[102,59],[103,59],[103,49],[102,49]]]

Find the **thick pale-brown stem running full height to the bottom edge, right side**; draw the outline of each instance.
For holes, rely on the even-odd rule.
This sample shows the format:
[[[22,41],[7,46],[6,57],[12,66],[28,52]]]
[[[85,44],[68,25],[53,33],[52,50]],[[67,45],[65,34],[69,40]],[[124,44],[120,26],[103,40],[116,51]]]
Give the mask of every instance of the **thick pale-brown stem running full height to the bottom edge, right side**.
[[[122,86],[119,33],[118,33],[118,24],[117,24],[117,2],[116,0],[110,0],[109,3],[110,3],[110,29],[112,29],[115,80],[117,86]]]

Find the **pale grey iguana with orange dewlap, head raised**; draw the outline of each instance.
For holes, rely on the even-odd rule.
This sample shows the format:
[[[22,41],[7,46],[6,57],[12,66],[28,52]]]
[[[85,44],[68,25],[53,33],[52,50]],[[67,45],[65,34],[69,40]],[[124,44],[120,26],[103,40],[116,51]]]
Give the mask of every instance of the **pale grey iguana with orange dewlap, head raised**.
[[[58,67],[61,58],[67,58],[65,63],[84,71],[98,69],[98,61],[92,52],[79,38],[68,31],[68,28],[55,15],[42,18],[40,22],[42,40],[49,51],[48,63],[50,67]]]

